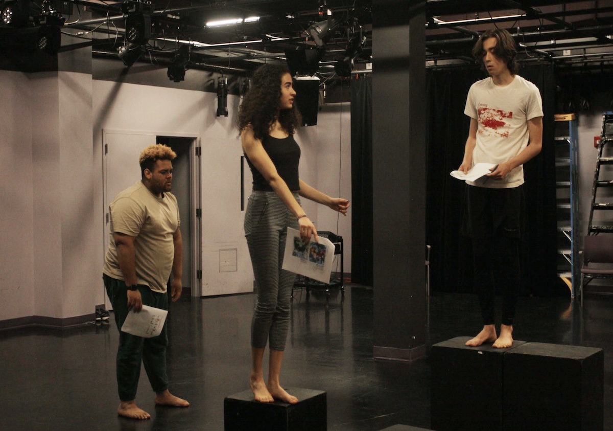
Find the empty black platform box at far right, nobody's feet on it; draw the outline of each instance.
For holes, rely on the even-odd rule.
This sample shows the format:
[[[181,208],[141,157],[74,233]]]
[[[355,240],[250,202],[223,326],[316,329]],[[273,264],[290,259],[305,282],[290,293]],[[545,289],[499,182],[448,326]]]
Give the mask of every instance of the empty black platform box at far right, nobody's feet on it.
[[[526,343],[504,355],[504,430],[603,430],[602,349]]]

